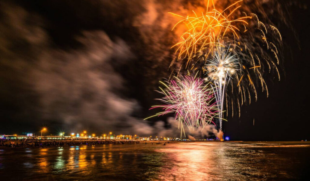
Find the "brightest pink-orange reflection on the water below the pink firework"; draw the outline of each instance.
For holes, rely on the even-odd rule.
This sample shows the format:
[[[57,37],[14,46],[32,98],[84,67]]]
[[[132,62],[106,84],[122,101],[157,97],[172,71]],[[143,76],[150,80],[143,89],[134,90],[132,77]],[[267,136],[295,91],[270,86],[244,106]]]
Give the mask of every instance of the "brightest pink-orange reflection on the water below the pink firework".
[[[195,143],[179,143],[168,144],[165,148],[159,149],[159,152],[167,153],[172,159],[171,162],[176,163],[173,168],[163,169],[160,178],[163,180],[209,180],[210,170],[214,170],[215,160],[213,158],[214,151],[212,146],[206,144]],[[220,168],[219,168],[220,170]]]

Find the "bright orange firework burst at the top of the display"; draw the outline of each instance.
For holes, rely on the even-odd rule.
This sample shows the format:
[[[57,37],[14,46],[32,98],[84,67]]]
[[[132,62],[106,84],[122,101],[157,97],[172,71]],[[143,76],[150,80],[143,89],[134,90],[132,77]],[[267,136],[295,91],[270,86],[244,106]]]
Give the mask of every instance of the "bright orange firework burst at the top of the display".
[[[171,65],[175,59],[180,60],[187,58],[186,67],[188,68],[189,62],[193,57],[197,56],[197,54],[206,54],[206,56],[208,56],[213,52],[215,45],[221,44],[219,40],[226,37],[228,33],[238,38],[237,32],[239,29],[233,23],[239,22],[247,24],[245,19],[250,18],[250,16],[242,16],[237,19],[233,19],[231,16],[233,12],[241,7],[237,6],[237,4],[242,0],[233,3],[223,11],[218,11],[214,6],[213,0],[211,1],[213,4],[212,11],[208,11],[207,8],[206,13],[201,12],[201,15],[197,15],[193,11],[193,17],[177,15],[183,19],[175,24],[172,30],[183,23],[185,24],[186,31],[181,35],[181,41],[171,47],[176,47],[176,57],[171,62]],[[209,1],[207,7],[208,6]],[[174,13],[171,14],[176,15]]]

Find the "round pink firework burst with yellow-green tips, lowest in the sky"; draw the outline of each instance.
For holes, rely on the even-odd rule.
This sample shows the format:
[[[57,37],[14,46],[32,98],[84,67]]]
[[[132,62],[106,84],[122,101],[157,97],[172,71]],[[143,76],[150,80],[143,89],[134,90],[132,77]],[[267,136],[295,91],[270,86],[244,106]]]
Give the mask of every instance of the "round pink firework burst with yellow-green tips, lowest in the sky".
[[[213,119],[220,114],[220,111],[214,100],[212,88],[209,88],[209,85],[200,78],[190,76],[184,76],[182,80],[174,78],[175,80],[166,81],[166,83],[160,82],[164,88],[159,87],[161,90],[159,93],[164,97],[157,100],[164,104],[152,106],[151,109],[161,108],[163,111],[151,117],[175,113],[175,121],[179,122],[181,135],[182,131],[184,132],[184,125],[190,131],[195,128],[202,131],[207,124],[214,123]]]

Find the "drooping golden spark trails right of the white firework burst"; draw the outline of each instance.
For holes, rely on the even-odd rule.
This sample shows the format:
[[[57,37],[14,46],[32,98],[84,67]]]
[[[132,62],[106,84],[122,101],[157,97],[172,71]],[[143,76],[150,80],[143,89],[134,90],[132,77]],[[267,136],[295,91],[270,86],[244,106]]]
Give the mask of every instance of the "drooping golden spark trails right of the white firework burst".
[[[246,13],[244,13],[244,15],[246,15]],[[265,26],[259,21],[257,15],[251,13],[250,16],[254,23],[249,21],[249,27],[244,26],[246,31],[240,35],[241,38],[238,40],[238,45],[240,46],[237,46],[237,48],[233,50],[238,55],[241,64],[241,70],[237,72],[237,82],[235,82],[237,87],[239,87],[239,94],[236,96],[236,103],[238,106],[238,100],[240,99],[241,106],[246,103],[246,99],[249,104],[251,104],[251,94],[254,94],[255,101],[257,101],[258,96],[256,88],[259,87],[262,92],[266,91],[268,97],[268,87],[264,80],[264,77],[268,75],[266,73],[273,73],[277,75],[278,80],[280,80],[280,73],[278,70],[279,49],[277,45],[281,45],[281,34],[276,27],[272,25]],[[271,41],[274,39],[276,39],[276,41]],[[261,59],[265,61],[261,62]],[[265,68],[267,69],[266,71]],[[245,91],[247,91],[247,94]],[[233,92],[233,86],[231,86],[231,92]],[[226,106],[226,109],[228,110],[228,106]],[[232,108],[232,112],[233,111]],[[238,108],[237,111],[240,116],[240,108]]]

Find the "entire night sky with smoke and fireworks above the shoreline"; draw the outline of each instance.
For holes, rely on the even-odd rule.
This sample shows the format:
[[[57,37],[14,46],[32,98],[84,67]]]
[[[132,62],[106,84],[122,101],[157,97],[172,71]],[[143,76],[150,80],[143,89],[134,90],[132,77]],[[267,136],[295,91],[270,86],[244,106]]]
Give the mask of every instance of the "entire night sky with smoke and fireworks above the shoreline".
[[[300,82],[308,81],[310,1],[4,0],[1,7],[2,134],[49,126],[60,136],[108,128],[265,140],[254,133],[268,128],[281,137],[292,127],[282,124],[288,117],[307,118],[296,113],[308,102]],[[172,105],[193,101],[167,96],[193,82],[202,89],[191,97],[199,96],[195,109],[188,104],[180,114]]]

